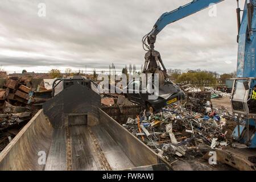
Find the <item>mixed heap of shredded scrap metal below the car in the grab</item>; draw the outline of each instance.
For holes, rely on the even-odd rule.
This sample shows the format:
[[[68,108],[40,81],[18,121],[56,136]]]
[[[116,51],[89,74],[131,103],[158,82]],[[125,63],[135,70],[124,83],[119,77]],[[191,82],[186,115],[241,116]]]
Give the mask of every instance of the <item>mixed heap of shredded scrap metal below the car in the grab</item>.
[[[128,118],[124,127],[160,156],[172,162],[193,159],[207,151],[229,144],[223,127],[232,114],[225,109],[195,113],[175,104],[159,113],[141,113]]]

